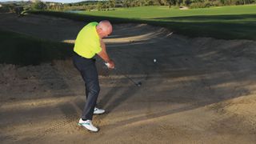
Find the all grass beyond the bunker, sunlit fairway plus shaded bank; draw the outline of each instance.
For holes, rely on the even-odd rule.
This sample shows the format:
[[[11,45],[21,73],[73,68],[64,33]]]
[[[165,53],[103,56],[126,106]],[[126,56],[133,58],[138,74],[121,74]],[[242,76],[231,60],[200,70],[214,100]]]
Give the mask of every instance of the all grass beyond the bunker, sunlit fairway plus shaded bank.
[[[179,10],[168,6],[118,8],[112,11],[85,11],[79,14],[34,12],[83,22],[109,19],[113,23],[148,23],[164,26],[190,37],[256,40],[256,5],[222,6]]]

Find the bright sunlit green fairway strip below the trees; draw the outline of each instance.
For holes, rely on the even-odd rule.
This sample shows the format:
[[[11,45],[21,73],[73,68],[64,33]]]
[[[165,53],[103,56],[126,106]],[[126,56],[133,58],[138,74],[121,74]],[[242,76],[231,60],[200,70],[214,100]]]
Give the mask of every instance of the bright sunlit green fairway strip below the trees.
[[[168,6],[142,6],[134,8],[118,8],[110,11],[85,11],[82,14],[114,18],[138,18],[152,20],[154,18],[173,18],[198,15],[230,15],[256,14],[256,5],[222,6],[204,9],[179,10]]]

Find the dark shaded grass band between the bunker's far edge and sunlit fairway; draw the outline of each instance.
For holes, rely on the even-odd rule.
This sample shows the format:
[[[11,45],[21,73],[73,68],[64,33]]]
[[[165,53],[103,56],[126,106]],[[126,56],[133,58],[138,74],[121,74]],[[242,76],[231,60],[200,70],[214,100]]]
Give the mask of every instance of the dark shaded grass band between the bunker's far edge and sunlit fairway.
[[[112,18],[90,16],[86,14],[71,14],[53,11],[29,11],[31,14],[45,14],[58,18],[69,18],[75,21],[91,22],[108,19],[118,23],[146,23],[152,26],[163,26],[177,34],[190,37],[212,37],[222,39],[251,39],[256,40],[256,14],[226,14],[198,15],[168,18]]]

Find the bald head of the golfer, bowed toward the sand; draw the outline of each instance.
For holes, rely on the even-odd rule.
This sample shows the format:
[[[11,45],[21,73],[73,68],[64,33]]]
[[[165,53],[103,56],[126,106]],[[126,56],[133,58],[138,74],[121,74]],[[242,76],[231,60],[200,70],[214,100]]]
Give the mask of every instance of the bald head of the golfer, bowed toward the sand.
[[[96,29],[97,29],[98,35],[101,38],[107,37],[109,34],[112,33],[112,25],[107,20],[99,22]]]

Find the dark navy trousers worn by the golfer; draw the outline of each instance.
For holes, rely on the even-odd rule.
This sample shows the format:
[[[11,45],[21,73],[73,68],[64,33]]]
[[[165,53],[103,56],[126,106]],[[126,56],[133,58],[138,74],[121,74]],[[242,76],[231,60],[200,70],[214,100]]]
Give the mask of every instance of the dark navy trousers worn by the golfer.
[[[95,58],[83,58],[74,52],[74,66],[82,75],[82,79],[86,86],[86,105],[82,110],[83,120],[92,120],[94,107],[96,106],[98,94],[100,91],[98,82],[98,71],[95,66]]]

